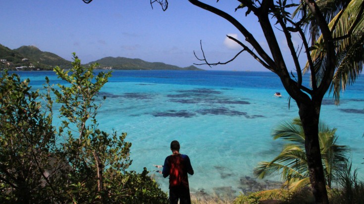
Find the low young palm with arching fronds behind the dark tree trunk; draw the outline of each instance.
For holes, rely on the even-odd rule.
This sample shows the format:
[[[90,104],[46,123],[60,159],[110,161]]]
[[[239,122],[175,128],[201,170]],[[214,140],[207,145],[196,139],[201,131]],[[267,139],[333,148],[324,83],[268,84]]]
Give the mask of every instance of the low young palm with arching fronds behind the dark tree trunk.
[[[319,123],[319,143],[326,184],[331,188],[338,172],[342,169],[349,149],[336,144],[336,128]],[[289,190],[295,191],[309,185],[309,170],[305,153],[305,134],[299,118],[283,121],[272,130],[274,140],[282,139],[289,142],[284,145],[281,153],[270,162],[260,162],[254,169],[254,175],[262,179],[273,173],[281,173],[281,179]]]

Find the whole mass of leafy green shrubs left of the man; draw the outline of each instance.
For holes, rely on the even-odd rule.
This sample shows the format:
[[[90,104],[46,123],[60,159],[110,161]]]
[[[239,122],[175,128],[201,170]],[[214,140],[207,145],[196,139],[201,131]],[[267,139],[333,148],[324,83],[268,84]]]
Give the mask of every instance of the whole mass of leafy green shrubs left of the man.
[[[110,72],[94,76],[95,64],[54,71],[67,85],[31,91],[29,79],[0,77],[0,203],[167,203],[156,181],[127,171],[126,133],[98,128],[96,103]],[[52,126],[53,100],[61,125]],[[105,98],[103,99],[105,100]]]

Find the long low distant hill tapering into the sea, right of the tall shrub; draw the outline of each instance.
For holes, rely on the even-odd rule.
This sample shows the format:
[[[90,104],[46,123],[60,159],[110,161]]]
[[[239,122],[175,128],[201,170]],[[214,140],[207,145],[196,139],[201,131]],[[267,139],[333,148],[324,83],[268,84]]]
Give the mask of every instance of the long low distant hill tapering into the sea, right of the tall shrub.
[[[195,66],[178,67],[162,62],[147,62],[142,59],[131,59],[126,57],[104,57],[90,62],[99,63],[100,68],[112,67],[112,69],[142,69],[142,70],[203,70]]]

